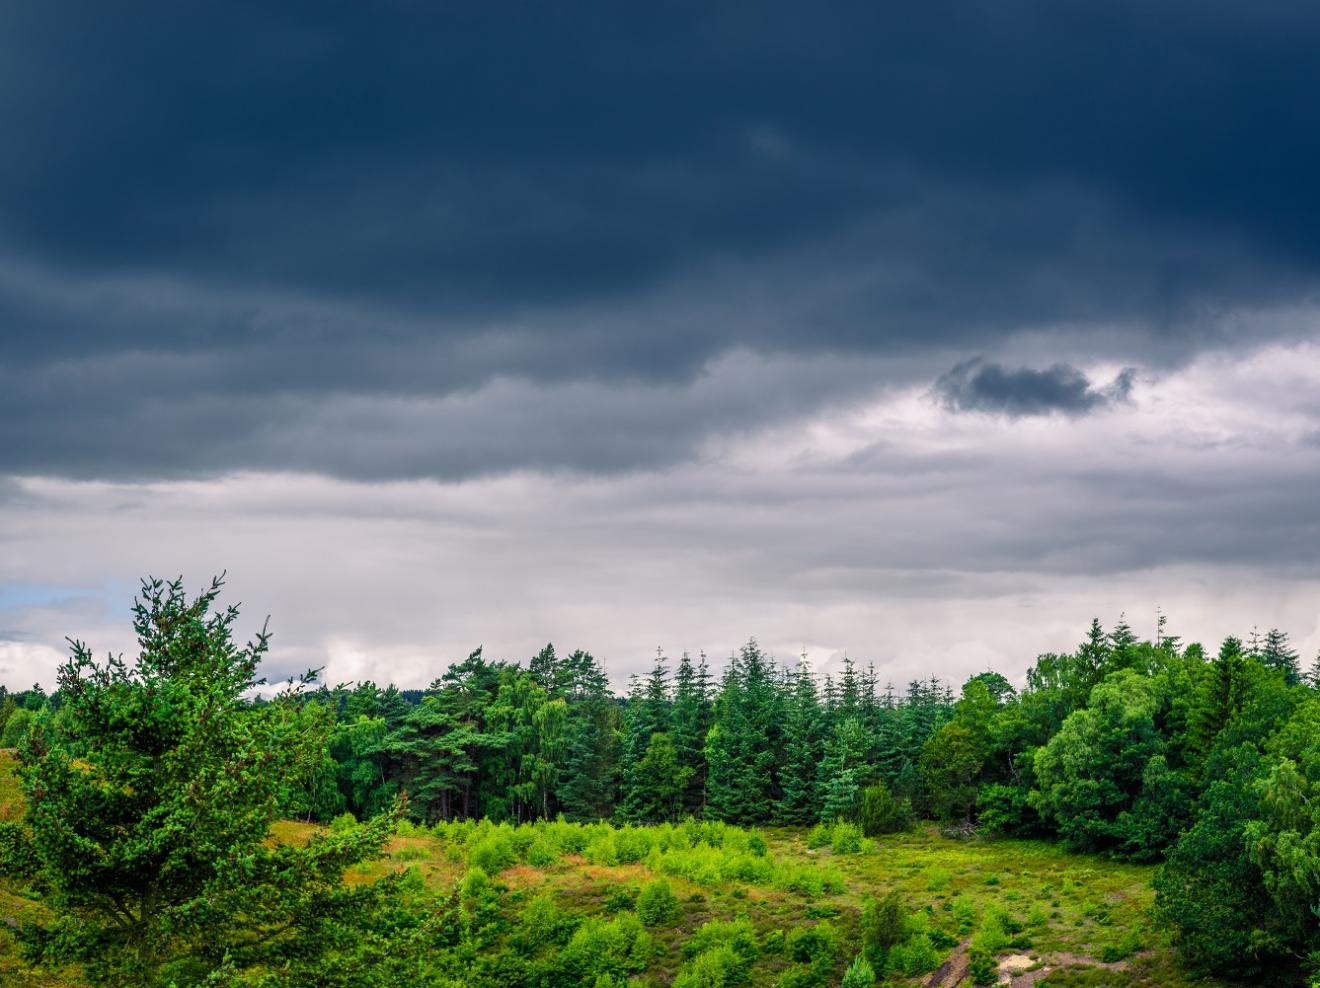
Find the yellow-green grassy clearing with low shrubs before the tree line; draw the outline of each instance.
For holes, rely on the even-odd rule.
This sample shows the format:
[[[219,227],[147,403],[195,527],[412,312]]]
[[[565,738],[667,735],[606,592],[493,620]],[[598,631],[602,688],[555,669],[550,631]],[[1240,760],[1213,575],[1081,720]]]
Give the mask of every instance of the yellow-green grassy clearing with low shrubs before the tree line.
[[[3,758],[0,818],[20,812]],[[281,823],[273,839],[302,841],[313,829]],[[891,889],[907,906],[908,935],[891,952],[888,984],[924,985],[950,960],[942,983],[970,984],[969,948],[995,963],[1016,958],[1005,963],[1055,988],[1191,984],[1151,927],[1148,866],[1041,843],[953,841],[929,827],[863,840],[855,852],[849,835],[822,836],[692,822],[405,826],[383,860],[350,880],[407,870],[436,892],[461,885],[495,919],[490,950],[612,951],[616,970],[645,985],[837,985],[859,950],[863,902]],[[0,884],[0,984],[79,984],[77,972],[38,975],[18,959],[11,927],[41,909]]]

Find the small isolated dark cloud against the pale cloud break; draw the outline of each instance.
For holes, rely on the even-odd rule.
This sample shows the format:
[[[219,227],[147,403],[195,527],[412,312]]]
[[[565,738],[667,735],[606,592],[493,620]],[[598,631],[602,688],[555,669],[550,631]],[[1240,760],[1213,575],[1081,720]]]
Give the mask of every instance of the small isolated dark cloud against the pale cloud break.
[[[964,361],[935,383],[935,395],[957,412],[999,412],[1008,416],[1085,415],[1126,402],[1137,371],[1123,370],[1113,383],[1096,387],[1076,367],[1056,363],[1045,370],[1005,367],[977,357]]]

